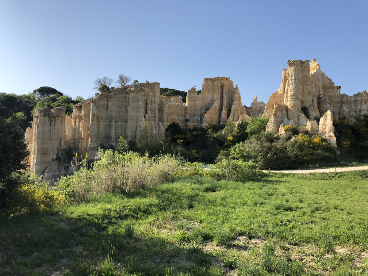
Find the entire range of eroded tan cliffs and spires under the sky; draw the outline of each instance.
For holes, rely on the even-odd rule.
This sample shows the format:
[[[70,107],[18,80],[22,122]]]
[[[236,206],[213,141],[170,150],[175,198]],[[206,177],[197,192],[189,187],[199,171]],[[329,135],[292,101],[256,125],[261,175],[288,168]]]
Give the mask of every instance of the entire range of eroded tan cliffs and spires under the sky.
[[[228,77],[205,78],[201,93],[190,89],[185,103],[177,96],[160,96],[160,84],[152,82],[102,92],[75,105],[71,117],[65,116],[62,107],[37,110],[25,136],[31,171],[38,175],[46,171],[55,178],[59,167],[49,165],[66,145],[79,156],[87,154],[93,159],[99,146],[115,146],[120,136],[138,143],[144,133],[148,138],[163,137],[173,122],[182,127],[207,127],[262,115],[270,117],[266,131],[276,134],[288,124],[315,131],[316,121],[309,122],[307,117],[323,116],[319,132],[336,146],[333,117],[354,121],[353,116],[367,114],[367,91],[341,94],[341,86],[335,86],[315,59],[310,64],[308,60],[289,60],[287,64],[278,91],[266,104],[254,97],[248,113],[241,104],[238,86],[234,87]]]

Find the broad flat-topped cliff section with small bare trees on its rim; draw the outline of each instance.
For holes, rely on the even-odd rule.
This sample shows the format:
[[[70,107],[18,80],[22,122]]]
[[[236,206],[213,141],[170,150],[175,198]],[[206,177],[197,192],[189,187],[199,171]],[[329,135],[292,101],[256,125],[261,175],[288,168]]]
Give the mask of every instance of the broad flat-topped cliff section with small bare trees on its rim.
[[[116,145],[120,136],[136,141],[142,121],[149,126],[150,136],[162,133],[159,121],[160,84],[143,83],[112,89],[87,103],[74,106],[70,144],[90,158],[100,144]]]

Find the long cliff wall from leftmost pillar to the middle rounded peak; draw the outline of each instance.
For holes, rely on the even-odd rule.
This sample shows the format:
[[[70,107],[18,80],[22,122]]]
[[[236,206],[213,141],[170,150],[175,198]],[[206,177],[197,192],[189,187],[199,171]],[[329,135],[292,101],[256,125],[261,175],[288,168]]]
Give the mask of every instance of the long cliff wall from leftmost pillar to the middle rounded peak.
[[[202,93],[191,89],[185,104],[177,96],[160,96],[158,82],[115,88],[75,105],[72,117],[65,116],[63,107],[37,110],[25,137],[31,171],[38,175],[52,171],[55,178],[57,165],[49,165],[67,145],[79,156],[93,159],[99,146],[115,146],[121,136],[139,142],[144,119],[153,138],[164,137],[164,129],[173,122],[206,127],[238,121],[245,114],[238,88],[226,77],[205,79]]]

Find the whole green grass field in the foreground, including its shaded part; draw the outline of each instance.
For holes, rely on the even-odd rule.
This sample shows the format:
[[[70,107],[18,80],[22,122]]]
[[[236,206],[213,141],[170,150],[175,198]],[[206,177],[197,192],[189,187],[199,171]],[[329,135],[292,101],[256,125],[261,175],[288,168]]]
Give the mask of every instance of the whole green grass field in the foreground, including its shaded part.
[[[199,176],[0,221],[0,275],[368,275],[368,172]]]

